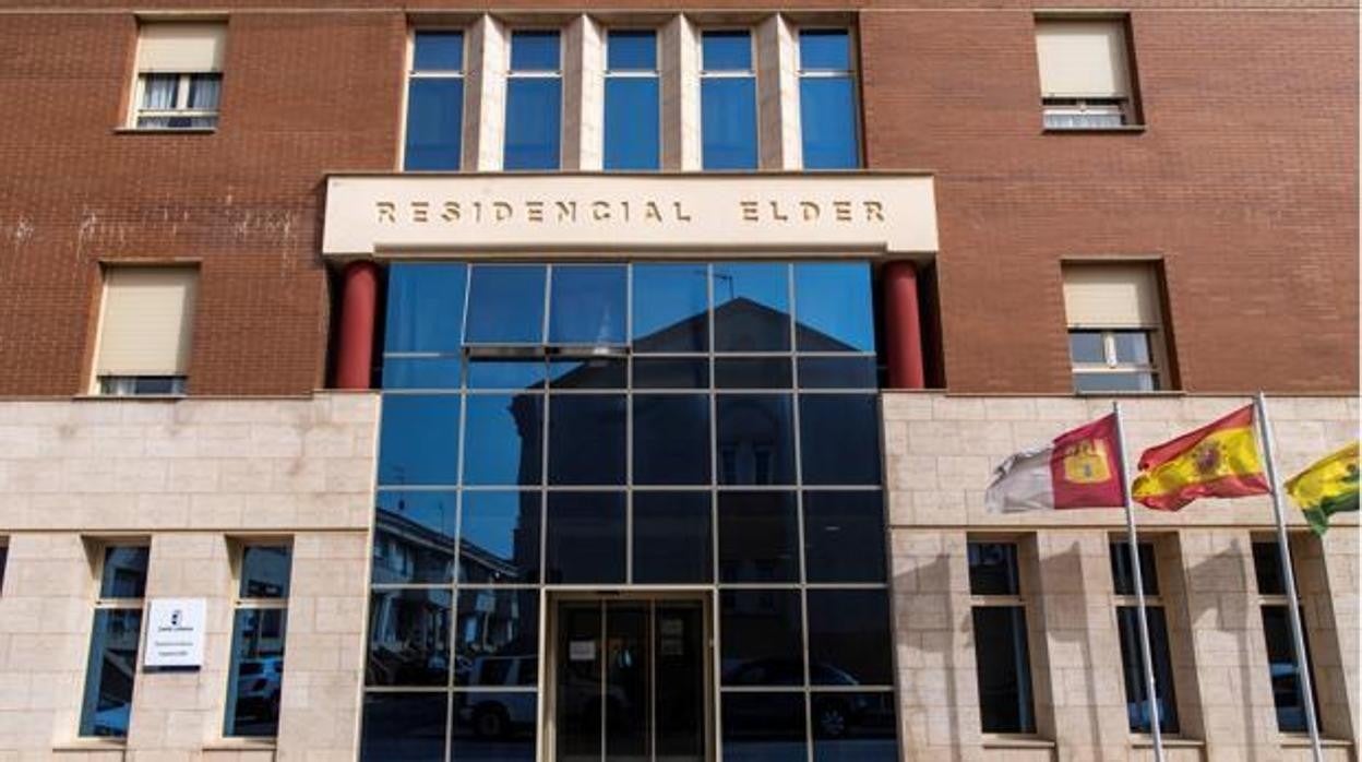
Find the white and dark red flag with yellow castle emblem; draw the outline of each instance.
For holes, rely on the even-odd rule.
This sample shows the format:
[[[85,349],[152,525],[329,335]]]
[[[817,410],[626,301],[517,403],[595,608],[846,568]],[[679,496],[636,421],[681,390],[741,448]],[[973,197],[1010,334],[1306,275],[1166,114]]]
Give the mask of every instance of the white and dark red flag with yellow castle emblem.
[[[1124,507],[1120,457],[1111,414],[1002,461],[985,506],[996,514]]]

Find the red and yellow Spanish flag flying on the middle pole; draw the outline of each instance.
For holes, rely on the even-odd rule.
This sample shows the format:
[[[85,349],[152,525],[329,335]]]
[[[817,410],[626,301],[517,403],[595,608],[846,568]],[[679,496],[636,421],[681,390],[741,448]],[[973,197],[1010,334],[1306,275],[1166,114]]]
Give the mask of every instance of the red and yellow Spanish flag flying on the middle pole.
[[[1197,498],[1267,492],[1252,405],[1145,450],[1132,487],[1136,500],[1160,511],[1175,511]]]

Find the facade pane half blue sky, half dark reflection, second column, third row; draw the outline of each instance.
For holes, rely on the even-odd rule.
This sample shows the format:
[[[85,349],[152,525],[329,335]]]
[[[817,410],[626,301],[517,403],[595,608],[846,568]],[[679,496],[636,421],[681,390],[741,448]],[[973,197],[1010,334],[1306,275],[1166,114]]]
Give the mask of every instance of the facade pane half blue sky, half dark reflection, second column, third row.
[[[537,485],[543,463],[542,394],[470,394],[463,483]]]

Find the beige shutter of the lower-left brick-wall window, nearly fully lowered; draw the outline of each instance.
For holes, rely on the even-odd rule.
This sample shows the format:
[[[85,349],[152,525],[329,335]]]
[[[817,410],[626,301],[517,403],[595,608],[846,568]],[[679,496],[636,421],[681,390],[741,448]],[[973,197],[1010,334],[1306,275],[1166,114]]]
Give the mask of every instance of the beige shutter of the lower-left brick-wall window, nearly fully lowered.
[[[109,269],[95,374],[185,375],[196,284],[191,267]]]

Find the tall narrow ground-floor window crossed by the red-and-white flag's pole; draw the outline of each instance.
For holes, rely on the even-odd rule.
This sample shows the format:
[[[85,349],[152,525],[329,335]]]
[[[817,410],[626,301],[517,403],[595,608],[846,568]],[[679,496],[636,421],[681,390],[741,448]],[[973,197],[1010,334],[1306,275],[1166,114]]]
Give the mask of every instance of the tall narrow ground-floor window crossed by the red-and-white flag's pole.
[[[1150,699],[1144,680],[1144,650],[1140,647],[1140,607],[1136,598],[1130,545],[1111,543],[1111,582],[1115,589],[1115,623],[1121,637],[1121,675],[1125,677],[1126,717],[1130,731],[1152,732]],[[1154,691],[1159,707],[1159,729],[1178,732],[1178,702],[1173,690],[1173,657],[1169,650],[1169,622],[1159,596],[1159,570],[1154,545],[1140,543],[1140,581],[1144,582],[1144,609],[1150,624],[1150,654],[1154,661]]]

